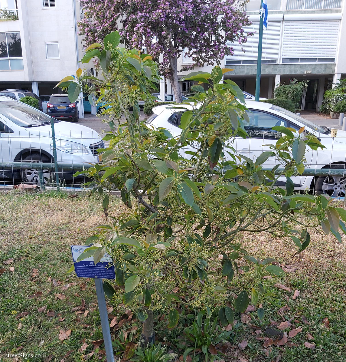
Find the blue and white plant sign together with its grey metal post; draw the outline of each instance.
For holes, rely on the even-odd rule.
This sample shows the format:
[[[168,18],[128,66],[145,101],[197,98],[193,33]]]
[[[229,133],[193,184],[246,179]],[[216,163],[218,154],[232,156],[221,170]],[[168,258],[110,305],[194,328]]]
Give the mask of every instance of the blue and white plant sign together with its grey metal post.
[[[84,260],[77,261],[80,254],[82,254],[84,250],[87,248],[90,248],[90,245],[71,246],[72,259],[75,267],[75,272],[77,274],[77,277],[80,278],[94,278],[107,362],[114,362],[111,330],[109,328],[109,323],[108,323],[106,299],[104,296],[104,289],[102,282],[103,278],[115,279],[113,260],[108,253],[105,253],[103,258],[97,264],[94,263],[93,256],[90,256]]]

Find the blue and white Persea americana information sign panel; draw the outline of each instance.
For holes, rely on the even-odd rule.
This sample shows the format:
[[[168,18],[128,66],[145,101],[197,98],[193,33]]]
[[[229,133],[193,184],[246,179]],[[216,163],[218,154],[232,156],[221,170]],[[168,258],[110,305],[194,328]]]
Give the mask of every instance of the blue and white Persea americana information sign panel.
[[[105,253],[103,258],[97,263],[94,263],[93,256],[84,260],[76,262],[80,254],[91,245],[72,245],[71,252],[73,263],[77,277],[80,278],[101,278],[101,279],[115,279],[115,270],[113,259],[108,253]]]

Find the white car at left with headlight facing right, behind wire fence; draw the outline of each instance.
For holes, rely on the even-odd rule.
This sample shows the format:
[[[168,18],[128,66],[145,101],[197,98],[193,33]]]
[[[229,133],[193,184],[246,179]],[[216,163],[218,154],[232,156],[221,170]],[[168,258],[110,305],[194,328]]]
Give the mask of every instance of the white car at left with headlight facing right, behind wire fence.
[[[53,162],[51,117],[22,102],[0,96],[0,162]],[[100,135],[89,127],[54,119],[57,161],[68,164],[59,173],[61,180],[72,180],[74,163],[99,162],[97,150],[104,148]],[[0,179],[13,182],[22,180],[39,183],[37,169],[25,170],[0,167]],[[44,170],[45,182],[52,179],[49,169]]]

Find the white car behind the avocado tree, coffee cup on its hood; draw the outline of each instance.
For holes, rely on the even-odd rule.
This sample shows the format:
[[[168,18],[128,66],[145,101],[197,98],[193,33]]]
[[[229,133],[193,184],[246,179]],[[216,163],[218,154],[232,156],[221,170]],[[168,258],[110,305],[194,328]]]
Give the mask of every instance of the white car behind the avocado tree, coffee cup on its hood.
[[[323,150],[319,148],[317,151],[307,147],[306,168],[345,168],[345,131],[338,130],[337,136],[332,138],[328,127],[317,126],[281,107],[255,101],[246,101],[246,106],[249,109],[250,122],[244,123],[244,126],[250,137],[246,139],[235,138],[233,147],[238,154],[256,159],[262,152],[270,151],[266,144],[275,144],[278,135],[280,135],[277,131],[272,130],[274,126],[292,127],[295,130],[304,126],[306,132],[316,135],[322,145],[326,147]],[[192,106],[187,107],[192,109]],[[153,115],[147,120],[150,125],[156,128],[164,127],[174,137],[180,135],[182,130],[178,126],[182,115],[181,110],[171,109],[169,105],[163,105],[154,107],[153,112]],[[188,157],[188,155],[185,156]],[[230,159],[227,152],[225,152],[225,157]],[[275,157],[270,157],[263,164],[263,167],[272,168],[276,164]],[[332,197],[344,197],[345,195],[346,178],[343,177],[292,176],[291,179],[296,190],[315,190],[318,194],[329,194]],[[285,182],[285,177],[280,177],[278,185],[284,186]]]

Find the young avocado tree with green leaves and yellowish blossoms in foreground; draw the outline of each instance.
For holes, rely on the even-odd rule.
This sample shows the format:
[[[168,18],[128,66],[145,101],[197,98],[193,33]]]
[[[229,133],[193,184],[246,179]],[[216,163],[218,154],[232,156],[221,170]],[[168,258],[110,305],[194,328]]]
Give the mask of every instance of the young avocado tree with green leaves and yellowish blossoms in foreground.
[[[167,328],[174,328],[182,307],[216,312],[227,325],[251,303],[263,318],[259,278],[284,272],[271,258],[250,256],[243,248],[244,233],[288,238],[299,253],[309,245],[309,229],[322,226],[339,240],[339,227],[346,231],[340,220],[346,220],[346,212],[333,208],[328,195],[294,193],[290,177],[304,171],[305,148],[323,146],[304,129],[276,127],[279,136],[270,151],[254,160],[239,157],[233,143],[235,137],[246,137],[247,109],[235,83],[219,83],[224,70],[218,66],[210,74],[186,77],[207,84],[208,90],[196,85],[193,104],[172,106],[182,112],[180,135],[155,129],[140,121],[136,101],[130,112],[123,99],[151,81],[153,73],[143,65],[151,60],[109,47],[107,39],[93,53],[102,58],[109,52],[104,80],[92,79],[88,87],[113,99],[116,106],[109,112],[118,117],[121,110],[123,118],[104,137],[109,147],[101,150],[102,162],[87,173],[94,180],[89,183],[92,194],[103,195],[106,216],[112,190],[120,190],[128,211],[108,215],[79,260],[93,256],[97,263],[105,252],[111,254],[116,280],[105,282],[105,289],[137,312],[145,345],[154,340],[155,316],[164,313]],[[124,74],[122,84],[109,81],[118,74]],[[85,87],[82,76],[66,81],[69,94]],[[277,160],[271,170],[263,168],[268,157]],[[285,188],[275,185],[280,176],[286,177]]]

